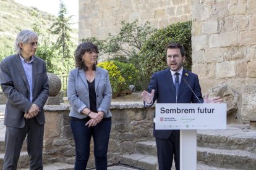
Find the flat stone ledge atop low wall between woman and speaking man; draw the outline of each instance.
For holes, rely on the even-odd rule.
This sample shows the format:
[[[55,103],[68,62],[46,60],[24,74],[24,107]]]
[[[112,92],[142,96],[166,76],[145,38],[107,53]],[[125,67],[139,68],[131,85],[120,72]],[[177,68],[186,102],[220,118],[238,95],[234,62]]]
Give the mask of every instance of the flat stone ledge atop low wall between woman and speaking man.
[[[155,107],[155,103],[152,105]],[[143,102],[111,102],[110,109],[144,108]]]

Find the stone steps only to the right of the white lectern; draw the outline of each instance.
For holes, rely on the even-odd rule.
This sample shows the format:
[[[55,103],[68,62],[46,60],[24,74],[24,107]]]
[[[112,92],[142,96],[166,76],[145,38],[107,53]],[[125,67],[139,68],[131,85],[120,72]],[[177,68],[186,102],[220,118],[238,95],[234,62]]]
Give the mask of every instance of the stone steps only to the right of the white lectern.
[[[198,131],[197,160],[220,168],[256,169],[256,130],[240,124]]]

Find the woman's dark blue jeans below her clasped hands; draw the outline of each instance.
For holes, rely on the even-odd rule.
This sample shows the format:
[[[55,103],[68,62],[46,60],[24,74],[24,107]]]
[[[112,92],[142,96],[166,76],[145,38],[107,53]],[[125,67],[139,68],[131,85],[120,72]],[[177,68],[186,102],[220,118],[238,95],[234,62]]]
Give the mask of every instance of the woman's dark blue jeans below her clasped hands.
[[[87,119],[88,121],[88,119]],[[70,127],[75,140],[75,170],[84,170],[90,156],[90,141],[93,137],[95,166],[105,170],[108,166],[107,152],[111,129],[111,119],[103,119],[94,127],[85,126],[87,121],[70,120]]]

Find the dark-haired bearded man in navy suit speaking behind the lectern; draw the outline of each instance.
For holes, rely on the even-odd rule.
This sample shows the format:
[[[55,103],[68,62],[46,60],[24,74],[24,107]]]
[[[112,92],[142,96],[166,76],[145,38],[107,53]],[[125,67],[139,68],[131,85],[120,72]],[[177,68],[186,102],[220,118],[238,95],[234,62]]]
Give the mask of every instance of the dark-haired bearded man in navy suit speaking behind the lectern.
[[[221,103],[223,101],[220,97],[208,99],[208,94],[203,100],[198,76],[182,67],[186,57],[181,44],[173,43],[166,47],[166,60],[168,68],[153,73],[148,91],[142,92],[145,107],[153,105],[155,100],[158,103]],[[154,124],[153,135],[156,138],[159,169],[170,170],[174,155],[176,170],[179,170],[179,130],[156,130]]]

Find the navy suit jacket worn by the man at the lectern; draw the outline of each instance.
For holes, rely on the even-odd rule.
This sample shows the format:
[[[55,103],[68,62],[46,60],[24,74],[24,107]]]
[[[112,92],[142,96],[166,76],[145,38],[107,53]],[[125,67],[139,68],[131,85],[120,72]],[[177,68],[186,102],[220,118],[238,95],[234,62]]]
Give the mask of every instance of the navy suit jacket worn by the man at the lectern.
[[[187,80],[189,86],[193,89],[199,100],[203,103],[198,76],[184,69],[182,72],[177,103],[200,103],[197,100],[197,97],[195,97],[193,92],[189,89],[189,86],[184,83],[183,78]],[[148,84],[148,92],[151,92],[152,89],[155,89],[153,103],[156,100],[157,103],[176,103],[176,90],[169,68],[153,73],[150,83]],[[171,135],[171,130],[156,130],[154,123],[153,135],[156,138],[167,139]]]

